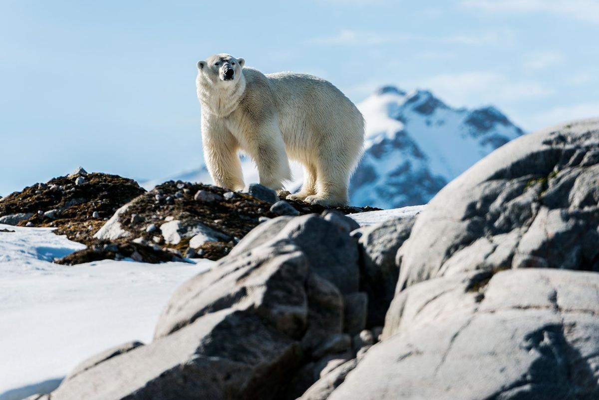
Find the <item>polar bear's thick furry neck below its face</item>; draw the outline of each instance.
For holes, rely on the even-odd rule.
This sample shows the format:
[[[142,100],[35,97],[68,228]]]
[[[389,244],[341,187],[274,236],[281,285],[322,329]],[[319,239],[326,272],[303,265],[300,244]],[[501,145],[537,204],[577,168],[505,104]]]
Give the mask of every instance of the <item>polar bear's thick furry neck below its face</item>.
[[[241,74],[241,77],[232,85],[198,84],[198,98],[202,104],[202,110],[222,118],[235,111],[245,90],[246,78]]]

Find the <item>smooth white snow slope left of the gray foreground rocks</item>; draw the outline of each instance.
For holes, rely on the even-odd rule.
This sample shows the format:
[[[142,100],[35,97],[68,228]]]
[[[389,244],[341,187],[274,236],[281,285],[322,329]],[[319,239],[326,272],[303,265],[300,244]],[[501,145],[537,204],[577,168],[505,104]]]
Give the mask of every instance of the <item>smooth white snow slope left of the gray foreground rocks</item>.
[[[0,400],[54,389],[108,347],[145,343],[171,293],[213,262],[63,266],[85,246],[47,228],[0,225]]]

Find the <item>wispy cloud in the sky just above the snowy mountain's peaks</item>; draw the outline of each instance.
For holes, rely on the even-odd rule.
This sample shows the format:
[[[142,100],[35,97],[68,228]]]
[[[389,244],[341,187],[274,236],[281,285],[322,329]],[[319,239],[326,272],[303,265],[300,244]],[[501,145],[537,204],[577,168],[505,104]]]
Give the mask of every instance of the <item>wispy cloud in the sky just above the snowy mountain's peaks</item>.
[[[553,90],[537,81],[512,80],[493,71],[440,74],[415,82],[434,90],[455,105],[479,105],[494,102],[519,102],[551,95]]]

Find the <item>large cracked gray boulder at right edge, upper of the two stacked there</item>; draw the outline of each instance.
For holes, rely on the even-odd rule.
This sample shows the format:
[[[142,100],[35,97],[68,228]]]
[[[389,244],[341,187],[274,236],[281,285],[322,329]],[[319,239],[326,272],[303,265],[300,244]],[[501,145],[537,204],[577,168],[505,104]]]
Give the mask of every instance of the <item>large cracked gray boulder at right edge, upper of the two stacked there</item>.
[[[599,120],[511,141],[448,184],[398,253],[398,290],[484,269],[599,271]]]

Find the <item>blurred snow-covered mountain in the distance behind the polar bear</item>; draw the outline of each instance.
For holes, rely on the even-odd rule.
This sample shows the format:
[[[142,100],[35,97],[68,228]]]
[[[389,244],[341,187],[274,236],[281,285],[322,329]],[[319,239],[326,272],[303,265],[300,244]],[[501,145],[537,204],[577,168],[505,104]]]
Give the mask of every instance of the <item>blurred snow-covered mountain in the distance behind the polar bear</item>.
[[[444,104],[431,92],[385,86],[358,104],[366,120],[364,157],[350,184],[350,204],[397,208],[426,204],[443,186],[479,159],[523,134],[497,108],[468,110]],[[242,161],[246,183],[258,181],[252,161]],[[302,182],[292,163],[291,191]],[[208,183],[205,166],[143,183],[165,180]]]

